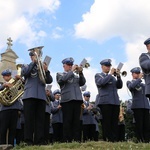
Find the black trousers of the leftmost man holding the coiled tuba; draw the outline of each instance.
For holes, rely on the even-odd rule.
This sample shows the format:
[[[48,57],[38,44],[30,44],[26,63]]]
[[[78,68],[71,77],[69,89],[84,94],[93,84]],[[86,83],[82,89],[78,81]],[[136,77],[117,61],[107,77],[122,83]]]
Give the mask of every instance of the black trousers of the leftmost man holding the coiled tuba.
[[[14,139],[16,135],[16,127],[18,120],[18,110],[9,109],[1,111],[1,128],[0,128],[0,143],[6,144],[7,130],[8,131],[8,144],[14,146]]]

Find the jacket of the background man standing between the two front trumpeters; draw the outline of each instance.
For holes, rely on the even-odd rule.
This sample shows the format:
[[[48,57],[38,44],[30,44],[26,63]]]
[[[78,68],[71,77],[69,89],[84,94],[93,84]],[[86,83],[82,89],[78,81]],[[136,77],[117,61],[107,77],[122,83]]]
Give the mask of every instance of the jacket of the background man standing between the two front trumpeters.
[[[87,103],[86,101],[84,101],[84,106],[85,108],[83,109],[83,115],[82,115],[83,125],[95,124],[93,112],[90,110],[87,110],[87,107],[89,106],[89,102]]]

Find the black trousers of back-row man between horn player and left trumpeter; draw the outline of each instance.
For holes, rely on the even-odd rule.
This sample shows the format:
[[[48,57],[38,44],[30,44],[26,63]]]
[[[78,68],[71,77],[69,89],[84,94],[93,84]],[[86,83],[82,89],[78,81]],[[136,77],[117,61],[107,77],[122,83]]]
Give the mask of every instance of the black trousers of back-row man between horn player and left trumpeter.
[[[53,123],[54,142],[63,142],[63,123]]]

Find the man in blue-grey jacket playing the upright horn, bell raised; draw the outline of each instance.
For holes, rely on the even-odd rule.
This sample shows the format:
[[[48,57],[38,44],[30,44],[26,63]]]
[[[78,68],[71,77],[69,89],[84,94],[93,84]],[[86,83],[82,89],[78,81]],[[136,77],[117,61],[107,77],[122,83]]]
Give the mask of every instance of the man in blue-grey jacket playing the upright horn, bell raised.
[[[34,52],[31,51],[29,55],[31,57],[31,63],[23,65],[21,71],[22,76],[25,78],[25,88],[22,98],[25,116],[24,140],[27,145],[41,145],[44,142],[45,84],[39,78],[37,60]],[[53,79],[47,65],[44,64],[43,68],[46,74],[46,83],[51,84]]]

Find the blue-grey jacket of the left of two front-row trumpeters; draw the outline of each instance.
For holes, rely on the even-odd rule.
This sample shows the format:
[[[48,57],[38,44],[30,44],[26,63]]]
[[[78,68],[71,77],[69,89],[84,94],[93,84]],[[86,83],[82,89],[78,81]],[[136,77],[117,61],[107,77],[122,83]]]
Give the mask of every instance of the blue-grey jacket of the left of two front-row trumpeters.
[[[72,71],[57,73],[57,82],[61,88],[61,103],[71,100],[83,101],[80,86],[86,82],[84,75],[79,77]]]

